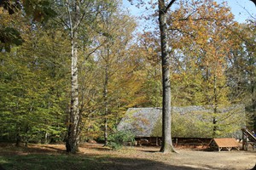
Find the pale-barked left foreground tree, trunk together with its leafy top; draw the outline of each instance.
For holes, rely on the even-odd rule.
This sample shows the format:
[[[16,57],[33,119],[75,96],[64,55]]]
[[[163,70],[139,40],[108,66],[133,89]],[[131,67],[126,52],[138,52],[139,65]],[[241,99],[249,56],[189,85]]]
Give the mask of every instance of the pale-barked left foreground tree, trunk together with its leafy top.
[[[61,4],[62,3],[62,4]],[[67,152],[76,153],[79,149],[79,136],[81,132],[81,112],[79,110],[79,47],[81,43],[89,44],[87,30],[96,26],[96,14],[98,12],[97,1],[67,0],[55,2],[58,18],[67,31],[70,40],[71,59],[71,94],[70,107],[67,116]],[[63,8],[65,7],[65,8]],[[94,23],[89,25],[89,23]],[[82,26],[83,29],[82,30]],[[84,39],[82,39],[84,38]]]

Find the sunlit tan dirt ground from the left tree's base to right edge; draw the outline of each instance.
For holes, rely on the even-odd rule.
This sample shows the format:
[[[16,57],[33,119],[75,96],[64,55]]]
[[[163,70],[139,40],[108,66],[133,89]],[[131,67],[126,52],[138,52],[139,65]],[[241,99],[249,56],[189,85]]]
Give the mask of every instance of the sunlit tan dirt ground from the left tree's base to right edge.
[[[178,154],[164,155],[157,147],[133,147],[107,151],[115,158],[106,169],[252,169],[256,163],[256,150],[203,151],[177,149]],[[106,151],[83,148],[84,154],[102,155]],[[105,153],[106,154],[106,153]],[[103,169],[105,169],[103,168]]]

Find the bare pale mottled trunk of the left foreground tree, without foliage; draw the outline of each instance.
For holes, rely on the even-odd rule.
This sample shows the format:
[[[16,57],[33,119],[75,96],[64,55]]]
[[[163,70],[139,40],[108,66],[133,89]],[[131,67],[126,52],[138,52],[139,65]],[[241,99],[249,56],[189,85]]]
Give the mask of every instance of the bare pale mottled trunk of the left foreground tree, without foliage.
[[[69,8],[68,8],[69,10]],[[74,25],[79,23],[79,1],[75,1],[74,22],[70,19],[71,29],[71,105],[69,111],[68,129],[67,129],[67,152],[76,153],[79,149],[79,72],[78,72],[78,29]]]

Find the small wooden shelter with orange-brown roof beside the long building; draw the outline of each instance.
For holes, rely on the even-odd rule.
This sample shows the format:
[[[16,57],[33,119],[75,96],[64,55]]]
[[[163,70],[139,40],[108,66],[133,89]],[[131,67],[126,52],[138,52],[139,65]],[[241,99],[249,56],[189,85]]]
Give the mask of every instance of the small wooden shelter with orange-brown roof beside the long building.
[[[211,148],[218,148],[218,151],[223,149],[230,151],[232,148],[240,150],[239,143],[232,138],[212,139],[209,145]]]

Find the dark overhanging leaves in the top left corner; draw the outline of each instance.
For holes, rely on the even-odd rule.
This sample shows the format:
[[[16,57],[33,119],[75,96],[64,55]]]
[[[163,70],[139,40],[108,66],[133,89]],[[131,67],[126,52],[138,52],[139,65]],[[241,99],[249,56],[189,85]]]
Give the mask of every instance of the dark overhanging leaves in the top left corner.
[[[24,20],[24,16],[20,17],[20,20],[17,20],[15,15],[21,15],[20,10],[25,11],[25,17],[28,19],[32,16],[33,20],[38,22],[45,22],[49,20],[49,18],[55,17],[57,13],[53,8],[51,8],[51,4],[47,0],[23,0],[22,3],[20,1],[14,0],[6,0],[0,3],[0,6],[3,6],[4,9],[9,11],[11,16],[9,17],[9,23],[20,22],[20,20]],[[23,8],[21,8],[21,6]],[[4,14],[4,12],[2,12]],[[6,15],[6,14],[4,14]],[[8,22],[8,20],[4,20],[8,17],[3,17],[3,23]],[[9,26],[8,26],[9,25]],[[20,30],[19,30],[20,29]],[[3,24],[0,27],[0,51],[10,52],[12,45],[19,46],[22,44],[23,39],[20,37],[20,31],[24,31],[21,28],[14,28],[11,24]]]

